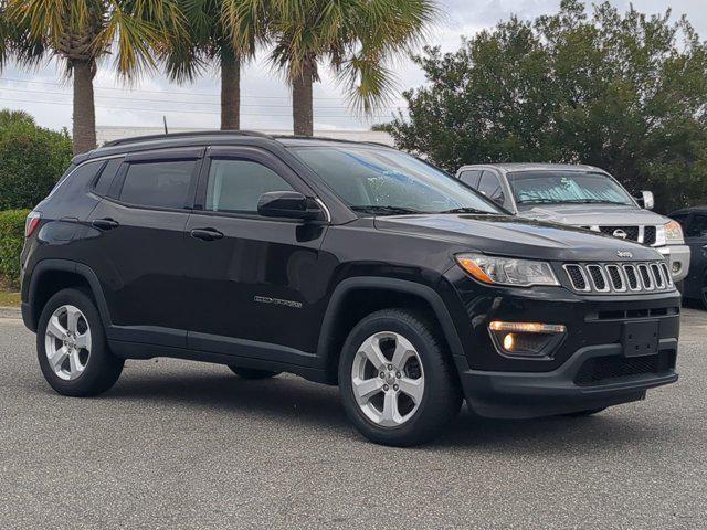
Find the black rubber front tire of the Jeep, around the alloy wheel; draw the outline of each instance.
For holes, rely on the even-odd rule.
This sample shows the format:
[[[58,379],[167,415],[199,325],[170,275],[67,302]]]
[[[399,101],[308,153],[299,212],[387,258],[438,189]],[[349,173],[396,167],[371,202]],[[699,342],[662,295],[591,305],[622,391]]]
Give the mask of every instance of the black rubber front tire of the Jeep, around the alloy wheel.
[[[401,316],[403,318],[400,318]],[[418,326],[413,325],[414,320]],[[371,422],[360,410],[352,391],[351,368],[358,348],[371,335],[381,331],[400,333],[415,347],[425,378],[420,406],[413,417],[398,427],[381,427]],[[455,390],[450,388],[453,382],[450,381],[449,371],[441,367],[446,363],[444,356],[445,352],[425,322],[412,314],[404,310],[383,310],[365,318],[349,333],[339,361],[339,390],[347,416],[365,436],[377,443],[409,446],[428,441],[436,434],[441,424],[446,423],[445,416],[453,417],[461,407],[461,398],[457,398],[456,405],[451,404],[449,400],[439,399],[450,393],[454,394]]]

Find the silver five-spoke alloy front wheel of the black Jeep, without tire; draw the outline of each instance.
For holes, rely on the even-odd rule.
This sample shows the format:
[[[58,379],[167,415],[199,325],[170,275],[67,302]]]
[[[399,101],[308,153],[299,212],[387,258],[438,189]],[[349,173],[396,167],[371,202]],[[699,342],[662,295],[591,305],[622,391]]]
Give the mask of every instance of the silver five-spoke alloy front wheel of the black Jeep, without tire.
[[[424,372],[418,350],[402,335],[382,331],[358,349],[351,390],[361,412],[383,427],[399,427],[420,407]]]

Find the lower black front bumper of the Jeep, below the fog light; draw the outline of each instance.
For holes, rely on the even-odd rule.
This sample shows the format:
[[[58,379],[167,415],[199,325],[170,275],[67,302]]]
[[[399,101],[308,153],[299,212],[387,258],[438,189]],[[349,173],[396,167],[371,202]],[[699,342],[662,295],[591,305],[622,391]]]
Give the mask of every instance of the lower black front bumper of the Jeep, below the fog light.
[[[549,416],[642,400],[647,389],[677,381],[676,353],[677,339],[662,339],[658,356],[644,358],[625,357],[621,344],[592,346],[577,351],[551,372],[466,369],[460,371],[460,379],[469,407],[478,415]],[[597,369],[601,363],[610,368]],[[621,368],[629,363],[641,370],[630,373]],[[597,379],[602,374],[609,377]]]

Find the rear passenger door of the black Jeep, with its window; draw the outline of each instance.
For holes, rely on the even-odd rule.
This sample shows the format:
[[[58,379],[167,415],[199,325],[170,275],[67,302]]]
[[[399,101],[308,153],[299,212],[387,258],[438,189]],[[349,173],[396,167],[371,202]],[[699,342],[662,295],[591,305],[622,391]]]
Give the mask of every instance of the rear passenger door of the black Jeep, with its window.
[[[103,284],[114,331],[124,331],[113,338],[186,346],[184,229],[203,150],[128,155],[91,215],[99,245],[89,265]]]

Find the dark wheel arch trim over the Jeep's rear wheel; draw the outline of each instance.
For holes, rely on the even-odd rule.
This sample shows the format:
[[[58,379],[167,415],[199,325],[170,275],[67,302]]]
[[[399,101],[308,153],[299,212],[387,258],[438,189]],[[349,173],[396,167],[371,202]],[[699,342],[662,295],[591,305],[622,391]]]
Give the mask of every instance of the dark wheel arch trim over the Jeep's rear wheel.
[[[36,331],[42,309],[57,292],[68,287],[83,287],[96,303],[104,327],[110,324],[110,314],[96,273],[87,265],[71,259],[43,259],[32,271],[27,303],[22,304],[24,325]]]

